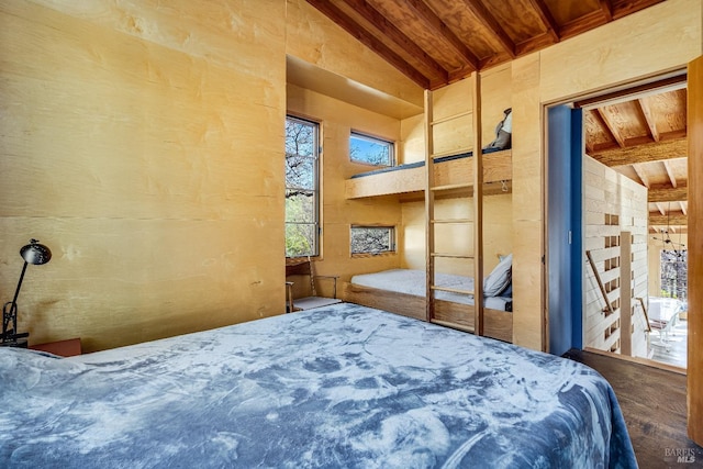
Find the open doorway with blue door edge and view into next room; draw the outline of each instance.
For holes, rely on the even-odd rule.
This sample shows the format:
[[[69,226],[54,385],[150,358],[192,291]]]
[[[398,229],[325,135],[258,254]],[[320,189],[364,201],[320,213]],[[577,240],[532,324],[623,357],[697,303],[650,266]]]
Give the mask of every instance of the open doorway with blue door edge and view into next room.
[[[681,289],[668,289],[671,263],[661,263],[672,253],[681,259],[687,243],[685,112],[684,72],[548,109],[550,349],[570,330],[573,347],[685,368],[688,302]],[[554,119],[559,114],[571,129]],[[568,132],[578,148],[559,143]],[[576,168],[559,176],[565,155]],[[566,177],[576,192],[560,187]],[[565,203],[568,210],[555,215]],[[554,243],[558,230],[568,241]],[[565,263],[565,252],[571,269],[554,265]],[[555,280],[553,271],[578,278]],[[678,282],[684,273],[679,261]],[[576,314],[557,312],[554,321],[553,300],[563,304],[570,295]]]

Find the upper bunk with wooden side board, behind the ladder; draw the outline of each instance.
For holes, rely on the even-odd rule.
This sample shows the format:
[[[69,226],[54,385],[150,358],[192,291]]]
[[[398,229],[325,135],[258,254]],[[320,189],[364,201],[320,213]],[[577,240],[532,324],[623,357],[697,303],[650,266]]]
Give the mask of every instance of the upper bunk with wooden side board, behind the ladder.
[[[446,155],[435,158],[434,186],[464,186],[473,180],[473,165],[467,165],[466,158],[472,152]],[[496,188],[495,192],[504,192],[512,180],[512,152],[503,149],[483,154],[483,182]],[[425,161],[391,166],[372,171],[354,175],[345,181],[345,197],[361,199],[391,194],[422,192],[426,186]],[[457,189],[454,193],[465,192]]]

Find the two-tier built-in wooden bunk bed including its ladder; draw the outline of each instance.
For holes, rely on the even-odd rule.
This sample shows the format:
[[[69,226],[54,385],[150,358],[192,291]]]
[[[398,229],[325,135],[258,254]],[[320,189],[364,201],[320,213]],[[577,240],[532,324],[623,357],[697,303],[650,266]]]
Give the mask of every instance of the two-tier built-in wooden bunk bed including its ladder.
[[[513,316],[511,311],[506,311],[512,310],[512,300],[495,308],[496,299],[493,297],[496,295],[484,294],[482,282],[477,288],[446,288],[437,283],[442,277],[437,267],[439,259],[442,263],[447,259],[450,263],[466,260],[466,267],[472,265],[472,278],[483,279],[483,263],[480,260],[483,258],[483,196],[511,190],[512,111],[510,108],[503,111],[505,118],[496,127],[496,139],[488,146],[481,145],[480,81],[479,74],[472,74],[471,80],[466,81],[471,88],[470,100],[466,101],[461,99],[466,97],[462,92],[453,99],[437,91],[443,93],[437,102],[444,103],[437,113],[434,91],[425,90],[424,161],[382,168],[345,181],[345,197],[349,200],[388,196],[397,196],[401,202],[424,199],[426,275],[420,277],[421,281],[411,292],[378,288],[373,283],[362,284],[356,278],[356,281],[352,279],[344,283],[343,294],[349,302],[512,342]],[[467,204],[472,206],[470,219],[458,217],[456,212],[435,215],[436,200],[459,198],[472,199],[470,202],[467,200]],[[445,246],[436,242],[437,226],[453,230],[459,225],[472,227],[473,248],[467,252],[449,244],[444,250]],[[398,286],[404,281],[394,283]],[[476,304],[445,297],[447,289],[451,293],[464,294],[464,299],[473,300],[476,297]]]

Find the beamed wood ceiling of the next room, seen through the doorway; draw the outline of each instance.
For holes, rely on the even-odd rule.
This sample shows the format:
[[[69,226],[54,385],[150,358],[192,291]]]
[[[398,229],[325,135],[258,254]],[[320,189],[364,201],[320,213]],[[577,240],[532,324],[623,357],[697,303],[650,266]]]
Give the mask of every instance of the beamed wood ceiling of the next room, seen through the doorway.
[[[687,233],[685,76],[584,108],[585,153],[648,189],[649,230]]]

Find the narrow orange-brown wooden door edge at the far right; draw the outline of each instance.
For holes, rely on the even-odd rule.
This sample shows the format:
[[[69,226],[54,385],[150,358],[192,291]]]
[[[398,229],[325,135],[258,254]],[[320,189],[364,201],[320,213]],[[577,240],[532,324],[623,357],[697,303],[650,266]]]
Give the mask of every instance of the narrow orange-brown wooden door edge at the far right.
[[[689,437],[703,446],[703,57],[689,64]]]

